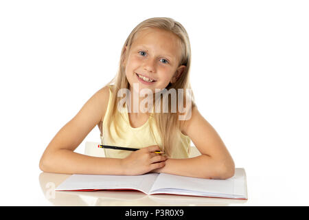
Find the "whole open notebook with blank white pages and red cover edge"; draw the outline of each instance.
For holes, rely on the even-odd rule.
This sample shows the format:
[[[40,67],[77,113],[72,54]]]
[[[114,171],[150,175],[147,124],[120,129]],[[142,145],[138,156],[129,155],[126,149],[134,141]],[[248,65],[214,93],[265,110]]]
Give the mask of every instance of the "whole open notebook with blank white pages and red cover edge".
[[[202,179],[166,173],[144,175],[81,175],[73,174],[56,191],[139,190],[147,195],[173,194],[200,197],[247,199],[244,168],[236,168],[229,179]]]

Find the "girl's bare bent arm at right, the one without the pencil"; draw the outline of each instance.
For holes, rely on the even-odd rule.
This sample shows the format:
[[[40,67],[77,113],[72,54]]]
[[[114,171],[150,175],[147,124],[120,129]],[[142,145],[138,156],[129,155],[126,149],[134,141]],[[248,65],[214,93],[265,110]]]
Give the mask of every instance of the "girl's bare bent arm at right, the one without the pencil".
[[[167,159],[165,166],[155,172],[205,179],[227,179],[234,175],[235,165],[229,151],[196,108],[192,109],[187,126],[183,126],[183,133],[191,138],[202,155],[188,159]]]

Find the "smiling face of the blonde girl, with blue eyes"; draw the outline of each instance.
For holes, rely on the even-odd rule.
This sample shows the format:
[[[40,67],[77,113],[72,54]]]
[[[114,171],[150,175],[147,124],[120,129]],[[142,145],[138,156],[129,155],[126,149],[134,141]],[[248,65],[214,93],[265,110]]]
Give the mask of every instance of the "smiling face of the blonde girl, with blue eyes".
[[[181,57],[179,38],[159,28],[147,28],[137,33],[126,61],[126,78],[132,91],[133,83],[144,88],[164,89],[185,69],[178,66]]]

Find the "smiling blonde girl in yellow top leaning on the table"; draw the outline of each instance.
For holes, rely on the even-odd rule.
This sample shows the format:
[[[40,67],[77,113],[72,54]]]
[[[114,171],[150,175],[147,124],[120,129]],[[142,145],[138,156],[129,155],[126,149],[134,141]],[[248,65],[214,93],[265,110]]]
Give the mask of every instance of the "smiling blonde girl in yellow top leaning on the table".
[[[207,179],[232,177],[235,166],[225,144],[185,92],[191,88],[190,63],[189,37],[179,22],[152,18],[139,23],[122,47],[117,76],[58,131],[41,157],[41,170],[101,175],[156,172]],[[145,102],[141,91],[148,91],[147,97],[152,98],[152,102],[148,99],[148,112],[136,111],[135,107]],[[172,97],[170,91],[176,96]],[[168,111],[163,111],[163,100],[155,98],[160,93],[168,97]],[[121,94],[126,94],[126,100],[130,101],[122,102]],[[176,112],[172,111],[174,101],[178,103]],[[185,120],[181,120],[181,104],[186,109]],[[102,149],[106,157],[73,152],[96,125],[103,145],[139,150]],[[190,140],[201,152],[200,156],[188,158]]]

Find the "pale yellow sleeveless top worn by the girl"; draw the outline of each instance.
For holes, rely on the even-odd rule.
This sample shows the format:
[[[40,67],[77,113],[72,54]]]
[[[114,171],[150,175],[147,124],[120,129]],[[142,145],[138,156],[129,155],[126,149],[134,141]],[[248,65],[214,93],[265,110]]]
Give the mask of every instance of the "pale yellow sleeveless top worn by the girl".
[[[107,115],[111,109],[111,99],[112,91],[111,87],[109,87],[109,100],[105,115]],[[157,129],[157,126],[155,125],[155,120],[151,117],[151,115],[145,124],[137,128],[133,128],[130,125],[127,107],[123,107],[122,110],[123,111],[121,113],[121,118],[119,118],[119,124],[117,124],[117,128],[119,127],[119,129],[117,129],[119,131],[119,136],[115,131],[114,122],[111,123],[111,126],[109,128],[110,135],[112,135],[115,142],[113,142],[111,137],[108,136],[109,134],[106,132],[108,128],[106,126],[106,116],[104,116],[104,120],[102,123],[102,135],[100,136],[102,145],[124,146],[131,148],[144,148],[151,145],[158,145],[160,148],[162,147],[159,131]],[[155,136],[152,136],[150,130],[151,128],[154,129],[153,133]],[[175,143],[175,151],[172,152],[170,158],[181,159],[187,158],[189,156],[188,151],[190,149],[190,137],[184,135],[183,133],[181,133],[181,131],[179,131],[179,133],[180,139],[178,140],[178,142]],[[130,155],[132,151],[122,151],[104,148],[104,153],[106,157],[125,158]]]

